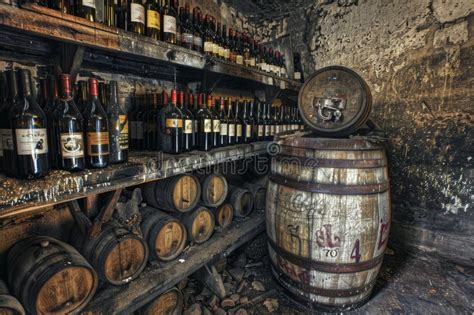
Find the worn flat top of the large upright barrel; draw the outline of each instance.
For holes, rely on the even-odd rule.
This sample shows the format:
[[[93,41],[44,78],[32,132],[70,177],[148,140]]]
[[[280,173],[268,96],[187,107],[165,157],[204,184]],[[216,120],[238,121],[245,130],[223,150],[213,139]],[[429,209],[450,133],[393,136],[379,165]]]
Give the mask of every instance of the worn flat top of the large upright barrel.
[[[364,138],[336,139],[297,137],[282,140],[280,145],[314,150],[364,151],[382,149],[380,144],[370,142]]]

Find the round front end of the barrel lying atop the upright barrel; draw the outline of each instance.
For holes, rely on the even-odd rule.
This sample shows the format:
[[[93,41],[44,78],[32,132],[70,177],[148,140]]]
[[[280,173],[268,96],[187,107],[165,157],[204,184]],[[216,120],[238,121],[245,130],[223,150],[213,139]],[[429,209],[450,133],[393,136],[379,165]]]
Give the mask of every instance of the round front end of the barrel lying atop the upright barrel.
[[[331,66],[316,71],[298,96],[302,119],[319,135],[345,136],[368,119],[372,97],[365,81],[351,69]]]

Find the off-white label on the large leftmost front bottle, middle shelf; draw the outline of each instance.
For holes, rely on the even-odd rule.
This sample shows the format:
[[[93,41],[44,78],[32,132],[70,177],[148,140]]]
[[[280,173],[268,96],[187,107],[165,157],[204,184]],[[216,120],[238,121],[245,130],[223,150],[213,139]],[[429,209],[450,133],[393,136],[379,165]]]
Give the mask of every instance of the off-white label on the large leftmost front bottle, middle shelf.
[[[18,155],[48,153],[46,128],[16,129],[15,135]]]

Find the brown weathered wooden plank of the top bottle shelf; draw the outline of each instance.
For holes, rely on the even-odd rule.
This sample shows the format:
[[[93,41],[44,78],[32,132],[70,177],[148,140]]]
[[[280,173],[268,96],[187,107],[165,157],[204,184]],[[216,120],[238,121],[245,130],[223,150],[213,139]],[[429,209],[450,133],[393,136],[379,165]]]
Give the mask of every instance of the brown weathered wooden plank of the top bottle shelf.
[[[187,69],[205,70],[225,76],[298,90],[299,82],[256,69],[208,58],[202,53],[170,45],[149,37],[90,22],[36,4],[16,8],[0,3],[0,27],[54,41],[83,45],[122,56],[140,57],[142,62],[157,62]]]

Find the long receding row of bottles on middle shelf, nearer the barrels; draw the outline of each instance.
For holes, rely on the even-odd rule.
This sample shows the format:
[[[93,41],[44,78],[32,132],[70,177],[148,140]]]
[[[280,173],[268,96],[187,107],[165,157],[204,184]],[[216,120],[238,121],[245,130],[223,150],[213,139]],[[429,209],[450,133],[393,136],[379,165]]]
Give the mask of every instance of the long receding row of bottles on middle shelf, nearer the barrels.
[[[298,130],[303,123],[294,107],[232,100],[183,91],[134,97],[130,113],[133,150],[182,153],[271,140],[280,132]],[[162,107],[163,106],[163,107]]]

